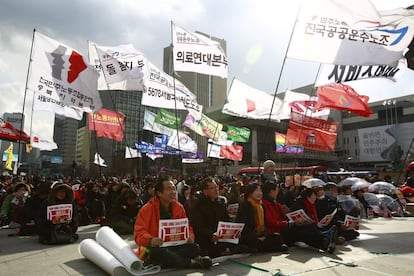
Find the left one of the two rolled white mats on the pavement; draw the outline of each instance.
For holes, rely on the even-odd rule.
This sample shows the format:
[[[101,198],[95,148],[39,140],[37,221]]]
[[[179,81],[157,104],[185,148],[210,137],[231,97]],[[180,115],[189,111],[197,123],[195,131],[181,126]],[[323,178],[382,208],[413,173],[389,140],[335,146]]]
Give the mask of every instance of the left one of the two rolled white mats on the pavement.
[[[79,244],[79,253],[110,275],[131,275],[111,253],[92,239],[85,239]]]

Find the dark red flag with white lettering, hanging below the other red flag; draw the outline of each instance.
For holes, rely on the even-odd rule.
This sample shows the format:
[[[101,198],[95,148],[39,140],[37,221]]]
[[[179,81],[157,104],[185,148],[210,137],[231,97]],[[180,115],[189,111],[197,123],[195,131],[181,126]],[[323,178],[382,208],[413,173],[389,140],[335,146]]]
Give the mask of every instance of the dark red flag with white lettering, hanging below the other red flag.
[[[328,122],[291,112],[286,145],[310,150],[335,151],[337,122]]]

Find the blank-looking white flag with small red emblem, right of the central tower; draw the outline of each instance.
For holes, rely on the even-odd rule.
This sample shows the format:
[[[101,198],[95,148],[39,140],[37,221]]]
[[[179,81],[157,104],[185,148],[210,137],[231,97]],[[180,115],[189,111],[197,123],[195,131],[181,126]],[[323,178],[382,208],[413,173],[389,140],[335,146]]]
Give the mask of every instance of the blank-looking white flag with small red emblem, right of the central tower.
[[[273,99],[274,105],[270,120],[279,122],[282,100],[234,78],[222,112],[236,117],[268,120]]]

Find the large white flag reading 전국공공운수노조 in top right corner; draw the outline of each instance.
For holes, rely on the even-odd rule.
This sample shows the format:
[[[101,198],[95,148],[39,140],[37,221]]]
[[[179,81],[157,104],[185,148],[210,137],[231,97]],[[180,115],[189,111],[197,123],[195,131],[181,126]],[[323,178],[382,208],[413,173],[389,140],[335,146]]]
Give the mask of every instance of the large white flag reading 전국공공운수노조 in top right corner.
[[[339,65],[393,64],[413,39],[414,11],[369,0],[303,1],[287,57]]]

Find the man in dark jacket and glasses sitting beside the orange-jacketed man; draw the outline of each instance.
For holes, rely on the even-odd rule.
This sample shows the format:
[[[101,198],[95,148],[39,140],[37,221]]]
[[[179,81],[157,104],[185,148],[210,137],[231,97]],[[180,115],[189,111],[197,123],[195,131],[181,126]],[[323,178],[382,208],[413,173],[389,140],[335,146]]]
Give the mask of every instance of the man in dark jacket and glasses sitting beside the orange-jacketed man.
[[[199,188],[202,194],[191,207],[190,221],[201,252],[212,258],[234,253],[234,244],[219,242],[219,221],[231,221],[226,204],[219,200],[219,186],[212,177],[207,177],[201,181]]]

